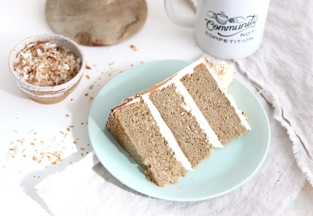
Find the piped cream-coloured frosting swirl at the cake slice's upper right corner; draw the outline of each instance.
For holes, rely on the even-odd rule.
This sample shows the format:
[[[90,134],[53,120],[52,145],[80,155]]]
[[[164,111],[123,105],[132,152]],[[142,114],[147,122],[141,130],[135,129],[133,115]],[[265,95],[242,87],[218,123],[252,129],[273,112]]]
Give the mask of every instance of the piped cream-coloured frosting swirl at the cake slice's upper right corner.
[[[223,88],[227,88],[228,85],[233,82],[234,79],[234,67],[230,66],[226,62],[220,62],[214,65],[215,74],[221,80]]]

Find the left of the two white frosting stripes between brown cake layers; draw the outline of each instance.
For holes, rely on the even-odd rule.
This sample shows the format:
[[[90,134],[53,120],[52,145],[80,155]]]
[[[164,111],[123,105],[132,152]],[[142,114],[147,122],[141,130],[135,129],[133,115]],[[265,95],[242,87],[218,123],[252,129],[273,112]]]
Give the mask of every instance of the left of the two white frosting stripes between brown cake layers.
[[[149,98],[150,93],[146,93],[141,95],[143,101],[147,104],[148,108],[150,109],[150,112],[156,121],[157,126],[160,128],[160,133],[162,136],[166,139],[168,146],[172,149],[172,151],[175,153],[174,157],[177,159],[177,161],[180,161],[182,165],[188,170],[192,171],[191,163],[188,161],[184,153],[182,153],[182,149],[179,147],[178,143],[176,142],[176,139],[174,138],[174,135],[170,128],[167,127],[167,124],[162,119],[159,111],[154,106],[154,104],[151,102]]]

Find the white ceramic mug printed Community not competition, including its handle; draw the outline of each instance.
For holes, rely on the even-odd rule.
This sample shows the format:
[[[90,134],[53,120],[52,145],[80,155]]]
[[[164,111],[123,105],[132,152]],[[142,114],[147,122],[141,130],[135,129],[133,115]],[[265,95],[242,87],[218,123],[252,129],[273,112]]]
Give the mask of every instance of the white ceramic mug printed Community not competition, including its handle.
[[[198,0],[196,17],[184,18],[165,0],[168,17],[194,28],[198,46],[223,59],[245,58],[259,49],[268,7],[269,0]]]

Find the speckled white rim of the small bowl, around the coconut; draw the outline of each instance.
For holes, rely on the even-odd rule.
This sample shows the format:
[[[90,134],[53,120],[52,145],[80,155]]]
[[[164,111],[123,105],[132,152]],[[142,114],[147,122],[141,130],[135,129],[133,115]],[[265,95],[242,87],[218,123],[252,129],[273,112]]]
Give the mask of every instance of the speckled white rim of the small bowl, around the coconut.
[[[61,38],[61,39],[64,39],[67,43],[72,43],[77,48],[77,50],[78,50],[78,52],[80,54],[80,58],[81,58],[81,67],[80,67],[79,71],[77,72],[77,74],[75,75],[75,77],[73,77],[72,79],[70,79],[66,83],[62,83],[62,84],[56,85],[56,86],[37,86],[37,85],[33,85],[33,84],[30,84],[30,83],[26,82],[25,79],[20,78],[18,76],[18,74],[15,72],[15,70],[13,68],[14,59],[16,58],[16,56],[14,56],[14,55],[16,55],[20,50],[23,49],[23,48],[20,48],[19,50],[17,50],[18,46],[20,46],[22,43],[33,42],[33,41],[40,41],[40,40],[36,39],[36,38],[39,38],[39,37]],[[10,72],[11,72],[11,75],[13,76],[13,79],[18,81],[20,84],[23,84],[27,88],[31,87],[31,88],[37,89],[38,91],[59,90],[59,89],[68,88],[69,85],[72,86],[72,85],[74,85],[75,83],[77,83],[80,80],[80,77],[84,73],[84,70],[85,70],[85,67],[86,67],[85,54],[80,49],[79,45],[74,40],[72,40],[72,39],[70,39],[68,37],[65,37],[65,36],[59,35],[59,34],[54,34],[54,33],[51,33],[51,34],[38,34],[38,35],[34,35],[34,36],[28,37],[28,38],[20,41],[11,50],[8,60],[9,60],[8,63],[9,63]]]

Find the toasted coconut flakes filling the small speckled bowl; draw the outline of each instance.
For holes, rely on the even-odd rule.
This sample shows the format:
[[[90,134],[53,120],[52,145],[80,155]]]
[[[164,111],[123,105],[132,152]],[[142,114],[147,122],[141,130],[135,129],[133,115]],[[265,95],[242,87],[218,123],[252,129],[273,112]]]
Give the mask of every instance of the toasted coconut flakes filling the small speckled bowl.
[[[26,44],[14,60],[14,71],[26,82],[37,86],[57,86],[76,76],[81,59],[68,48],[50,41]]]

